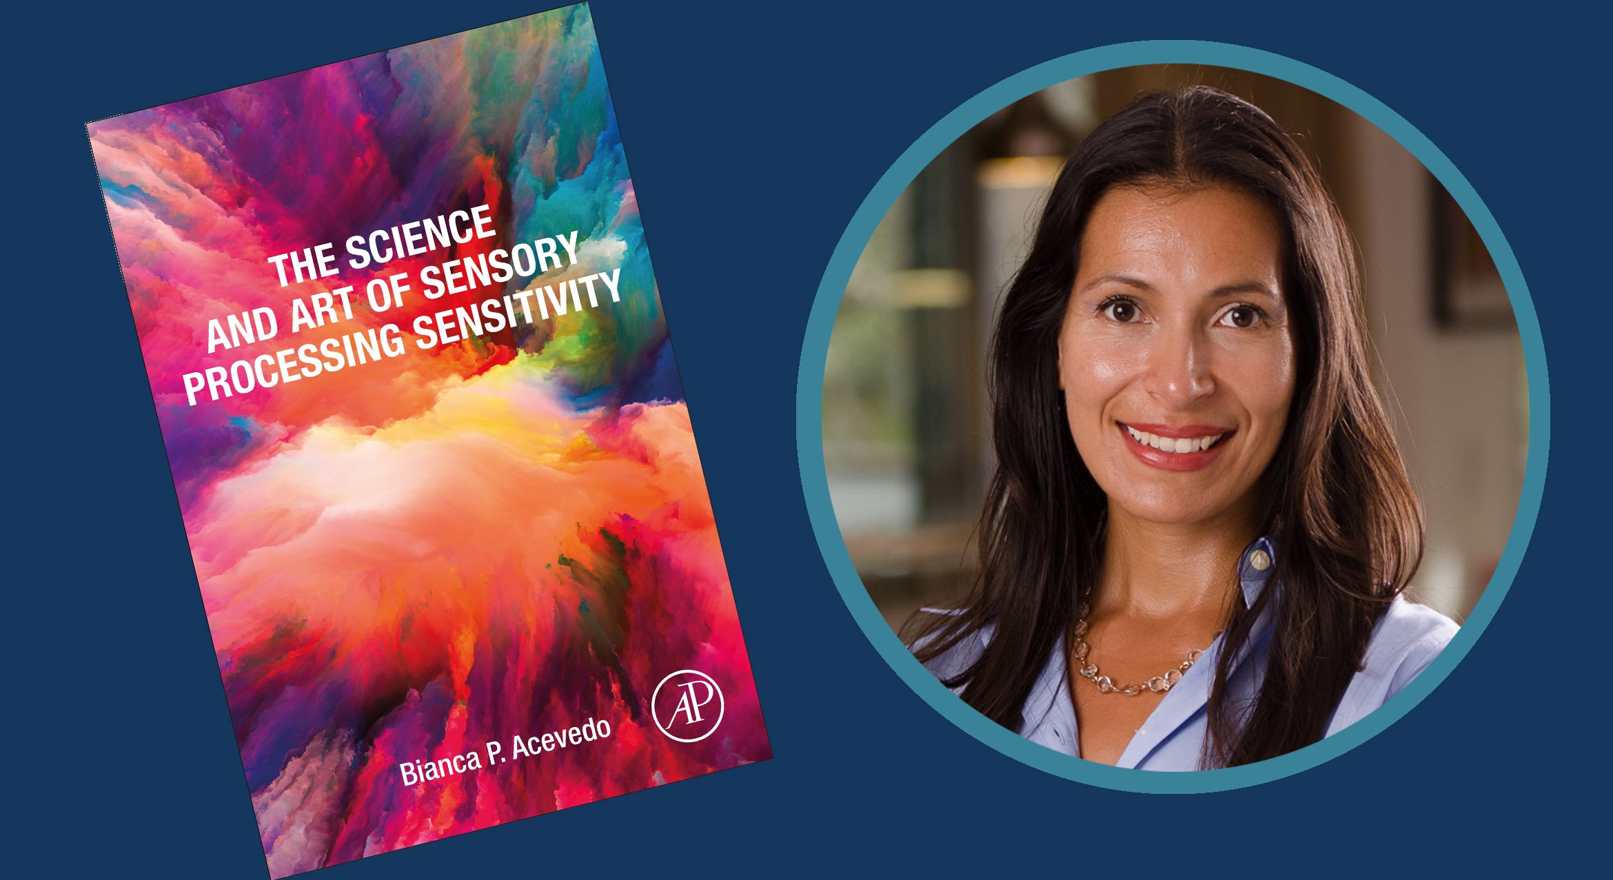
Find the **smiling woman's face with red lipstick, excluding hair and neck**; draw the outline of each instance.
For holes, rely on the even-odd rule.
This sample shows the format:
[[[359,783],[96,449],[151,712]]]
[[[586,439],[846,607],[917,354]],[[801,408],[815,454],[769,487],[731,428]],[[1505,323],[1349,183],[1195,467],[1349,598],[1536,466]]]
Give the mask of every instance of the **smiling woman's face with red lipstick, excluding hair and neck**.
[[[1253,511],[1294,398],[1282,230],[1229,187],[1115,187],[1081,239],[1058,337],[1069,434],[1150,522]]]

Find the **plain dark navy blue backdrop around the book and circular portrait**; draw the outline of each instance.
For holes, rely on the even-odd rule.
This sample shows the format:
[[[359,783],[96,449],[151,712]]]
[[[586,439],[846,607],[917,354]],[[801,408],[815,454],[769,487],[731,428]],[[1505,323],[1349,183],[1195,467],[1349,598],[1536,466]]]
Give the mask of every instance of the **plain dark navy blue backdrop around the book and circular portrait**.
[[[526,2],[47,3],[11,18],[5,316],[5,862],[265,877],[84,122],[545,8]],[[1607,98],[1592,23],[1544,3],[597,0],[595,24],[776,759],[319,877],[755,869],[1368,872],[1589,848],[1608,743],[1603,564]],[[15,13],[13,13],[15,15]],[[1405,719],[1252,790],[1089,788],[990,751],[874,654],[818,554],[794,387],[823,268],[895,156],[1039,61],[1137,39],[1244,44],[1337,74],[1466,174],[1523,266],[1555,443],[1523,569]],[[18,822],[21,819],[21,822]],[[1597,830],[1602,822],[1597,822]],[[32,875],[29,872],[27,875]]]

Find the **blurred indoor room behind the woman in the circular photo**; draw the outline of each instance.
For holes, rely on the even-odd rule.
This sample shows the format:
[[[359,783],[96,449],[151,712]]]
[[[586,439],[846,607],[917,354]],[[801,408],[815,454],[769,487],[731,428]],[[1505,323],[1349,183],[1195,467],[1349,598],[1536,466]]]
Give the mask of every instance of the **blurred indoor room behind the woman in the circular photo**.
[[[1139,92],[1203,82],[1266,110],[1355,234],[1376,377],[1428,516],[1410,596],[1457,621],[1495,569],[1528,450],[1523,347],[1500,276],[1455,201],[1340,105],[1247,71],[1142,66],[1060,82],[936,156],[868,242],[824,366],[829,496],[892,627],[979,574],[992,472],[982,359],[997,303],[1063,158]]]

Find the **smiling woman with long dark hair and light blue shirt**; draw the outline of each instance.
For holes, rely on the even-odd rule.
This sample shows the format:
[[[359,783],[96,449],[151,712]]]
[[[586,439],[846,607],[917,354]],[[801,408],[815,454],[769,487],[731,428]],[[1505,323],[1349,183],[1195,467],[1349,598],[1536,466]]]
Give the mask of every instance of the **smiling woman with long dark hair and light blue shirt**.
[[[982,577],[910,621],[977,711],[1105,764],[1274,758],[1455,635],[1400,596],[1423,516],[1348,232],[1253,105],[1150,93],[1048,195],[992,343]]]

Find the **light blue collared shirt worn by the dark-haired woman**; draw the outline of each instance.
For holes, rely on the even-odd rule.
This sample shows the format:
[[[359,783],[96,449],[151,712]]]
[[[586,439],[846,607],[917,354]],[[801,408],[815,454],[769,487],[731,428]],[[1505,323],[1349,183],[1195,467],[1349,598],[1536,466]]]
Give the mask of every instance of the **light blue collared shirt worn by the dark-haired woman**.
[[[1266,562],[1263,567],[1253,564],[1257,553],[1266,554],[1265,559],[1260,559]],[[1276,543],[1269,538],[1260,538],[1244,551],[1244,558],[1239,561],[1239,583],[1248,606],[1255,604],[1271,580],[1271,572],[1276,567],[1271,561],[1276,559]],[[1252,706],[1255,695],[1260,693],[1271,650],[1273,608],[1274,603],[1268,604],[1255,619],[1244,654],[1234,661],[1227,674],[1227,704]],[[1355,674],[1350,687],[1344,691],[1344,698],[1327,724],[1327,737],[1361,720],[1390,696],[1400,693],[1400,688],[1407,687],[1439,656],[1457,630],[1457,624],[1439,611],[1395,596],[1394,604],[1373,630],[1373,640],[1366,648],[1366,667]],[[932,659],[927,664],[929,670],[942,680],[957,675],[974,662],[981,646],[989,638],[990,629],[987,627]],[[1218,635],[1198,658],[1198,662],[1182,675],[1182,680],[1166,691],[1148,720],[1137,728],[1126,751],[1119,756],[1118,767],[1139,770],[1198,769],[1208,730],[1205,706],[1210,701],[1210,685],[1215,682],[1219,653],[1221,637]],[[1069,696],[1065,656],[1065,643],[1060,638],[1024,701],[1021,735],[1032,743],[1081,758],[1076,706]],[[1126,698],[1115,696],[1115,699]]]

